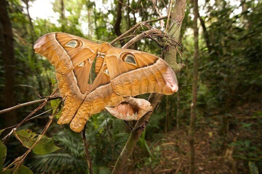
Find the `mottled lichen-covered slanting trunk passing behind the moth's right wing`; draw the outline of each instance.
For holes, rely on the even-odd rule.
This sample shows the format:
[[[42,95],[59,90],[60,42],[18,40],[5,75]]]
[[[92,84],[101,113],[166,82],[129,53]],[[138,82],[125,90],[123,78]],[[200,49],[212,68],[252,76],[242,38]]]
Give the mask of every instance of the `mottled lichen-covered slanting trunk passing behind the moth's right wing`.
[[[179,39],[179,33],[181,29],[182,20],[184,18],[184,9],[186,5],[186,0],[177,0],[175,3],[175,7],[173,10],[173,13],[171,14],[171,28],[170,28],[170,37],[175,39],[175,41],[178,42]],[[177,37],[178,36],[178,37]],[[170,53],[169,51],[172,51]],[[171,57],[170,57],[171,56]],[[176,63],[176,50],[172,47],[167,46],[164,51],[164,57],[168,64],[174,64]],[[175,62],[175,63],[173,63]],[[177,64],[177,63],[176,63]],[[175,72],[179,72],[183,65],[177,64],[175,66],[176,69],[174,69]],[[161,94],[151,94],[148,101],[151,103],[153,109],[156,107],[157,103],[160,101],[161,97],[163,95]],[[118,157],[115,167],[112,171],[112,173],[123,173],[124,168],[126,166],[127,160],[129,156],[132,154],[133,149],[135,145],[137,144],[137,141],[139,137],[143,133],[143,129],[141,128],[142,125],[145,125],[145,123],[149,120],[150,116],[152,114],[151,112],[148,112],[146,115],[144,115],[141,119],[139,119],[131,132],[129,139],[127,140],[124,149],[122,150],[120,156]]]

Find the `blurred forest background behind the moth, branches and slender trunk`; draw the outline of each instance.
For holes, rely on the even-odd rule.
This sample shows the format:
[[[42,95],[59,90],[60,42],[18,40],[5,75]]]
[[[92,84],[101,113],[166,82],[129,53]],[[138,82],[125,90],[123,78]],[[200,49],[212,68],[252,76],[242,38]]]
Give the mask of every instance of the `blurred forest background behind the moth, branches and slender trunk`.
[[[43,5],[45,3],[47,5]],[[54,67],[33,50],[42,35],[59,31],[110,42],[138,22],[159,18],[159,14],[166,16],[166,4],[166,0],[50,0],[44,3],[41,0],[1,0],[1,13],[7,10],[8,16],[3,18],[1,14],[0,23],[0,110],[52,93],[52,85],[56,83]],[[262,1],[199,0],[198,6],[195,173],[262,172]],[[44,13],[45,10],[50,13]],[[177,54],[177,62],[185,64],[177,74],[179,91],[164,95],[153,112],[125,164],[128,173],[188,172],[193,1],[187,1],[184,15],[180,32],[182,47],[178,46],[183,54]],[[7,31],[12,31],[13,45],[6,53],[8,56],[3,56],[3,47],[10,46],[5,42],[6,30],[3,30],[8,21],[11,27]],[[166,22],[167,19],[157,21],[151,26],[164,31]],[[95,40],[92,41],[99,42]],[[116,42],[114,46],[121,47],[128,40],[130,38]],[[129,49],[159,57],[162,51],[150,38],[141,39]],[[94,80],[94,67],[90,75],[90,80]],[[19,130],[31,129],[39,134],[58,100],[48,102],[35,115],[50,111],[26,122]],[[20,123],[39,104],[0,115],[0,130]],[[31,152],[23,165],[34,173],[88,172],[81,134],[70,130],[68,124],[58,125],[58,117],[59,114],[54,116],[46,135],[61,149],[45,155]],[[135,122],[129,121],[129,124],[134,126]],[[1,138],[10,131],[2,132]],[[107,111],[88,120],[86,138],[94,173],[112,171],[129,135],[125,122]],[[27,150],[14,136],[6,147],[4,167]]]

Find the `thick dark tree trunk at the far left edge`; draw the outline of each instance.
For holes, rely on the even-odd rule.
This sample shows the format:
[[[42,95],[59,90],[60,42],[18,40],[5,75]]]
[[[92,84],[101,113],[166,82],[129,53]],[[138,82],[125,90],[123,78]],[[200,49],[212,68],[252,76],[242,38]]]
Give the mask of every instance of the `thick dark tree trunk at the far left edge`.
[[[15,95],[15,50],[13,42],[13,31],[11,21],[7,12],[8,2],[6,0],[0,0],[0,20],[2,23],[2,35],[3,35],[3,63],[5,70],[5,86],[4,86],[4,105],[5,108],[14,106]],[[4,123],[5,126],[11,126],[16,124],[16,111],[10,111],[5,114]]]

